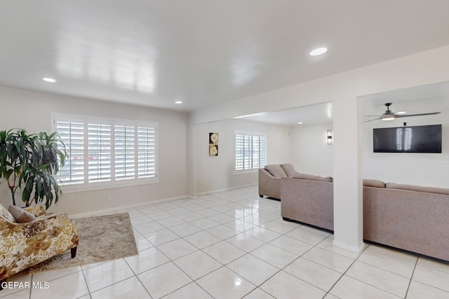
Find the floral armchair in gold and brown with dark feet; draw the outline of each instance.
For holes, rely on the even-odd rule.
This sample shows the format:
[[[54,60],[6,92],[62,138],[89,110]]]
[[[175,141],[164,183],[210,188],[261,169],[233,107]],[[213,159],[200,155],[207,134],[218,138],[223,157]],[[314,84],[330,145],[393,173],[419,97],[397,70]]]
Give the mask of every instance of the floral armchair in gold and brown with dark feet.
[[[0,204],[0,282],[68,249],[76,255],[78,229],[67,214],[46,214],[38,205],[24,210],[36,220],[15,223]]]

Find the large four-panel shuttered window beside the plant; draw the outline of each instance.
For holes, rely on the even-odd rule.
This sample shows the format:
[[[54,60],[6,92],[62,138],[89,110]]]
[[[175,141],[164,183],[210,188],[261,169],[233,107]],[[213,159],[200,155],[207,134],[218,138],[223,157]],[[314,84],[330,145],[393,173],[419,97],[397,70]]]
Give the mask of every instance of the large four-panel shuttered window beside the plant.
[[[95,189],[156,181],[156,123],[55,115],[69,159],[65,188]]]

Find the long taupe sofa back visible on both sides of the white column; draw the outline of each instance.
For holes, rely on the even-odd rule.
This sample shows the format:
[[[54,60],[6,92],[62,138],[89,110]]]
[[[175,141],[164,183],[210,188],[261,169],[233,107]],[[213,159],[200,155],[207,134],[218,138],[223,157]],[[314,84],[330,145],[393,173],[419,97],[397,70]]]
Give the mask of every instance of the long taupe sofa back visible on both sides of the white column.
[[[281,216],[333,230],[333,183],[281,179]],[[363,239],[449,260],[449,189],[363,180]]]

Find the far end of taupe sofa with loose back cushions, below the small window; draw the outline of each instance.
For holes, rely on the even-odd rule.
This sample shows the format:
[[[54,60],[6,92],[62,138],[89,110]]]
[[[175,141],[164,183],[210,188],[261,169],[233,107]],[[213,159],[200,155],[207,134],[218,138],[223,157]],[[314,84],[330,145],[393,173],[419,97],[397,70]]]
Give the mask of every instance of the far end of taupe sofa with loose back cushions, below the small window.
[[[281,178],[296,174],[290,163],[269,164],[259,168],[259,196],[281,199]]]

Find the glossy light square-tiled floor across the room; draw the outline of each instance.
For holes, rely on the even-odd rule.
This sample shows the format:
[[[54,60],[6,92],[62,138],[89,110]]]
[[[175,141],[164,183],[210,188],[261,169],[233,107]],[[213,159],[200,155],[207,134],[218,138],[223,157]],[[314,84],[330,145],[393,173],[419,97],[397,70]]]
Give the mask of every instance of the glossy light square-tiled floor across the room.
[[[139,255],[8,281],[2,298],[449,298],[449,263],[283,221],[278,201],[247,187],[148,204],[128,212]]]

